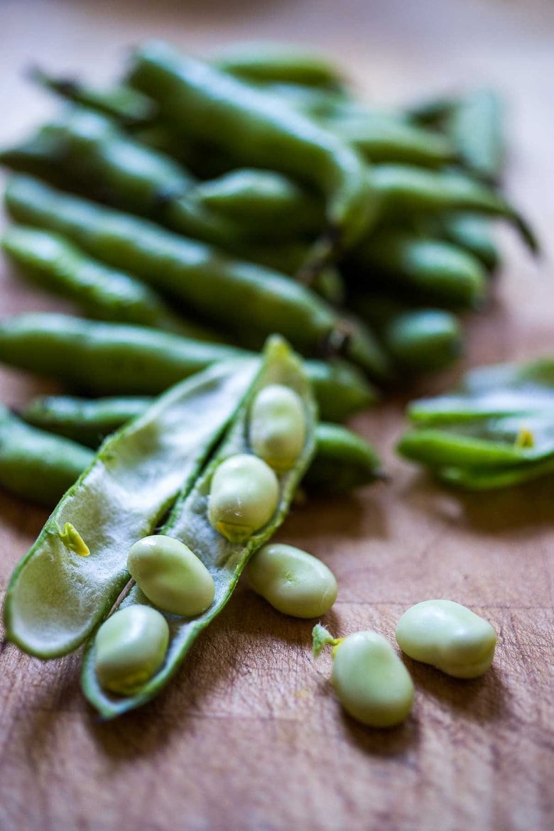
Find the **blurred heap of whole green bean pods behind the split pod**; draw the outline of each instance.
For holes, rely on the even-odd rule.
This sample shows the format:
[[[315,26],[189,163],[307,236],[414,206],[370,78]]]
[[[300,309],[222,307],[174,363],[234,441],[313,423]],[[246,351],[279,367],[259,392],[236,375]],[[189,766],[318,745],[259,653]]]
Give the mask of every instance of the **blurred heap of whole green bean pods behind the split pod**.
[[[69,103],[0,152],[19,223],[2,246],[100,322],[3,320],[0,360],[81,394],[159,392],[279,332],[341,373],[341,419],[372,384],[462,352],[458,312],[483,306],[498,265],[493,219],[536,248],[498,189],[492,92],[385,111],[321,57],[266,46],[201,61],[149,42],[104,89],[32,74]],[[132,360],[71,371],[70,340],[87,369],[124,342]]]

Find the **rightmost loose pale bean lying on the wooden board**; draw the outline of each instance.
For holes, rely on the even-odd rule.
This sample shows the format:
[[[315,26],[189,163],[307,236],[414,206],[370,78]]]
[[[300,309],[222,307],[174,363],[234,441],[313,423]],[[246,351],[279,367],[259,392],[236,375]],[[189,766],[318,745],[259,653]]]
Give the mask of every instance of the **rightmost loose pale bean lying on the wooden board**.
[[[424,600],[396,627],[400,649],[454,678],[477,678],[493,663],[497,634],[488,621],[452,600]]]

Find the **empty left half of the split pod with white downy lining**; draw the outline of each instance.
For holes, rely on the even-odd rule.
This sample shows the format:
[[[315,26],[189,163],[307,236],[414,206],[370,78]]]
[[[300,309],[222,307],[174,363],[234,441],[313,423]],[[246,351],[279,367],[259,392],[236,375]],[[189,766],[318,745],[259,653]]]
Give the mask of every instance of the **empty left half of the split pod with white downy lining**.
[[[12,574],[4,604],[10,641],[51,658],[86,639],[129,579],[127,548],[192,487],[257,366],[214,366],[105,441]]]

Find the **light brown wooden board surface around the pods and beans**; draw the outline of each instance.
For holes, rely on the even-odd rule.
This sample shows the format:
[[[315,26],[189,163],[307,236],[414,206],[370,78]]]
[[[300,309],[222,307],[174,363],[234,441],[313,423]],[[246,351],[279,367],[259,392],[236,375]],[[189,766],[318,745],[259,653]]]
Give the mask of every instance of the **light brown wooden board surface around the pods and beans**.
[[[486,315],[468,321],[464,366],[554,352],[552,76],[549,2],[26,2],[3,0],[1,138],[52,109],[22,78],[37,61],[107,79],[150,36],[199,52],[249,37],[321,47],[360,90],[395,102],[491,82],[510,101],[508,189],[546,249],[530,262],[503,232],[507,266]],[[61,307],[0,271],[3,315]],[[461,367],[460,367],[461,368]],[[450,373],[428,389],[451,381]],[[3,401],[50,389],[0,371]],[[554,482],[458,496],[395,459],[401,401],[360,416],[389,487],[296,509],[281,537],[336,573],[328,623],[392,637],[401,612],[449,597],[499,632],[482,680],[409,662],[414,713],[372,731],[341,714],[329,659],[314,663],[311,622],[273,612],[242,587],[164,695],[98,725],[78,685],[79,656],[47,664],[0,656],[0,828],[184,831],[547,831],[552,803]],[[0,496],[0,589],[46,516]]]

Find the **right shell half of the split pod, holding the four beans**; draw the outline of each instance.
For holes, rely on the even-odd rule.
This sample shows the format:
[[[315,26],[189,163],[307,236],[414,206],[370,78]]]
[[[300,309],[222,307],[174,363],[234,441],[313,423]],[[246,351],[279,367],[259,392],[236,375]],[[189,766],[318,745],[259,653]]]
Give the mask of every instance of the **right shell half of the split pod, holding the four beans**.
[[[279,499],[272,519],[262,529],[254,531],[246,541],[231,542],[218,534],[208,519],[208,494],[211,482],[224,460],[251,452],[246,435],[252,396],[255,396],[263,386],[274,383],[289,386],[301,396],[306,408],[306,443],[294,467],[278,476]],[[250,555],[272,536],[287,515],[297,485],[315,450],[315,423],[315,406],[311,398],[309,381],[302,371],[302,364],[292,355],[286,344],[276,338],[269,343],[262,369],[250,387],[241,410],[233,419],[213,459],[203,470],[189,494],[184,494],[174,505],[169,519],[161,529],[162,534],[177,538],[188,545],[208,568],[215,584],[214,601],[206,612],[196,617],[186,618],[164,613],[170,632],[169,650],[164,666],[139,691],[129,696],[116,696],[102,689],[95,671],[95,642],[93,639],[88,642],[83,661],[82,686],[87,699],[103,718],[115,718],[125,711],[142,706],[156,696],[179,669],[199,634],[223,609]],[[129,607],[134,603],[148,604],[145,596],[137,588],[131,589],[120,603],[120,608]]]

